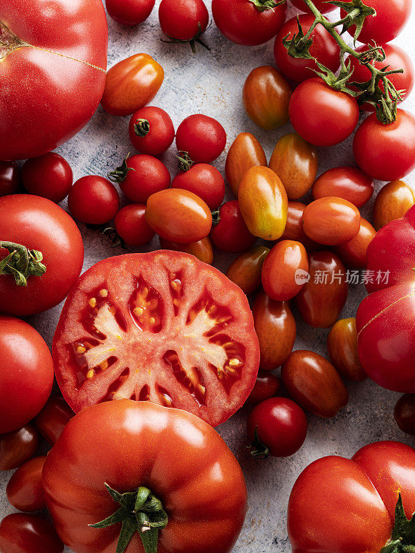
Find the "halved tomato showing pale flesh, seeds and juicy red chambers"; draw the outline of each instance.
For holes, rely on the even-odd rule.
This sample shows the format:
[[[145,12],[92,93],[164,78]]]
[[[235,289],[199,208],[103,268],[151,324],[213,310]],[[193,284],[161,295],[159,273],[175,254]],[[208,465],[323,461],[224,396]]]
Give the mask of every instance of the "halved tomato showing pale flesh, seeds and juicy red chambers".
[[[62,310],[53,358],[75,412],[127,397],[216,426],[250,394],[259,345],[237,285],[194,256],[162,250],[84,272]]]

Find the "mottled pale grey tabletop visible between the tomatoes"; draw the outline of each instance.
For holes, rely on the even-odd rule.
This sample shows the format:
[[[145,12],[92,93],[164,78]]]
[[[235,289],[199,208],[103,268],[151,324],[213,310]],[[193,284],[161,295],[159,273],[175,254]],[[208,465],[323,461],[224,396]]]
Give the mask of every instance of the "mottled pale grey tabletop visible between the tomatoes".
[[[241,101],[243,82],[250,71],[260,65],[274,64],[273,41],[262,46],[246,48],[232,44],[212,26],[204,39],[210,52],[198,46],[193,55],[187,45],[165,44],[158,25],[157,8],[144,24],[124,28],[109,19],[109,66],[135,53],[148,53],[165,68],[165,81],[153,105],[166,109],[178,124],[187,115],[205,113],[217,118],[228,133],[227,149],[241,131],[250,131],[263,144],[269,158],[278,138],[292,132],[287,124],[277,131],[262,131],[246,116]],[[210,1],[207,1],[210,8]],[[396,39],[415,61],[415,17]],[[405,109],[415,112],[415,93],[405,101]],[[100,108],[88,126],[68,144],[59,149],[71,163],[75,178],[85,174],[105,175],[131,149],[127,126],[128,118],[107,115]],[[225,151],[225,153],[226,153]],[[164,156],[172,174],[176,170],[174,149]],[[215,165],[223,172],[225,153]],[[319,174],[330,167],[353,165],[351,140],[332,148],[319,149]],[[415,186],[414,176],[405,179]],[[382,183],[378,182],[376,189]],[[230,195],[231,197],[231,195]],[[373,202],[371,203],[373,205]],[[363,214],[369,216],[371,205]],[[62,207],[66,208],[64,203]],[[370,218],[370,216],[369,216]],[[111,249],[100,236],[80,225],[84,236],[86,258],[84,270],[107,256],[122,254]],[[156,249],[151,243],[149,249]],[[226,270],[231,258],[216,252],[215,265]],[[365,290],[362,285],[351,286],[347,306],[342,316],[351,317]],[[31,323],[50,343],[62,306],[31,319]],[[298,322],[295,348],[315,350],[326,355],[326,330],[314,330]],[[302,449],[291,458],[256,461],[246,451],[246,411],[234,415],[219,431],[245,474],[249,492],[249,510],[246,525],[234,547],[234,553],[288,553],[290,544],[286,534],[286,506],[291,487],[300,471],[309,462],[324,455],[338,453],[351,456],[359,447],[375,440],[402,440],[414,444],[412,438],[396,427],[393,409],[399,395],[379,388],[372,382],[348,383],[349,404],[333,420],[322,420],[308,415],[309,430]],[[6,483],[10,474],[0,474],[0,516],[13,511],[6,500]]]

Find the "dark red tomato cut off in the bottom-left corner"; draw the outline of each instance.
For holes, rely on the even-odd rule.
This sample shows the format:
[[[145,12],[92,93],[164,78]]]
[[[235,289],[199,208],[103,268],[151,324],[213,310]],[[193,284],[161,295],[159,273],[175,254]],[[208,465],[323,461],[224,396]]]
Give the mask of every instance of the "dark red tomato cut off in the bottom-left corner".
[[[1,553],[62,553],[53,526],[33,514],[9,514],[0,523]]]

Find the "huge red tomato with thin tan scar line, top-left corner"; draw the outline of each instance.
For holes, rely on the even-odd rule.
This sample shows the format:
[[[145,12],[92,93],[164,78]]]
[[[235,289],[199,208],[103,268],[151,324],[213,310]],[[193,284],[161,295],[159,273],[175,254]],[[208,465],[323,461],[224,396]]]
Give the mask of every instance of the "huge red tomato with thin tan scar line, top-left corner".
[[[3,2],[0,21],[32,47],[1,64],[0,160],[42,156],[91,119],[104,91],[107,18],[100,0]],[[21,83],[25,83],[24,90]]]

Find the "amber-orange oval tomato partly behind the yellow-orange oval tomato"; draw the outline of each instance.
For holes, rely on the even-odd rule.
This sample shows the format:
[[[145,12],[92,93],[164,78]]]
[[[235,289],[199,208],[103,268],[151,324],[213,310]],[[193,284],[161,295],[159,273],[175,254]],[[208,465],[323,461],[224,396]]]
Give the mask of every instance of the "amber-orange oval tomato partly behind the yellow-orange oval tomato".
[[[311,189],[317,174],[317,149],[297,133],[282,136],[271,156],[270,169],[282,180],[288,199],[297,200]]]

